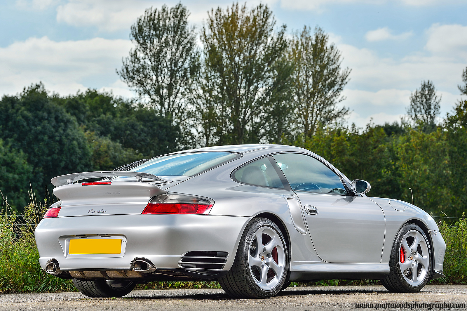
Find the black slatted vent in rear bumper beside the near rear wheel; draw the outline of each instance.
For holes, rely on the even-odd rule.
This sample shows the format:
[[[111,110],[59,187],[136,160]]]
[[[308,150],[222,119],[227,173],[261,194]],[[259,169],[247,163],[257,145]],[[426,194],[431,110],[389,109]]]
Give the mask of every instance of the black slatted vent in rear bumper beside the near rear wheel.
[[[227,252],[191,251],[182,256],[182,268],[198,270],[222,270],[227,262]]]

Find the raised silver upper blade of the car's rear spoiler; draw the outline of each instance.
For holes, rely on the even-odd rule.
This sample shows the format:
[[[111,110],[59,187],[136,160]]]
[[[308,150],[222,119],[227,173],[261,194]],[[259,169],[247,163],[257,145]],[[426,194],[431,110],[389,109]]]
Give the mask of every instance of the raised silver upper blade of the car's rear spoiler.
[[[89,178],[104,178],[108,177],[109,180],[112,177],[136,177],[138,182],[142,182],[142,178],[149,178],[154,180],[159,180],[163,182],[171,182],[171,180],[162,179],[161,177],[157,177],[156,175],[152,175],[149,173],[142,173],[142,172],[128,172],[128,171],[118,171],[118,170],[107,170],[102,172],[83,172],[83,173],[73,173],[68,175],[57,176],[50,179],[50,182],[54,186],[63,186],[65,184],[73,184],[78,180],[82,179],[89,179]]]

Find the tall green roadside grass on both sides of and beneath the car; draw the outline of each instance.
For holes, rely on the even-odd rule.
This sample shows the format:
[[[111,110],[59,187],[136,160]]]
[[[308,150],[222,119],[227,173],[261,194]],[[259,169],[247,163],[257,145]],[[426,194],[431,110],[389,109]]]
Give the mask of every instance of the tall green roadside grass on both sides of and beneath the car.
[[[45,273],[39,265],[39,253],[35,244],[34,229],[46,211],[47,201],[31,202],[18,215],[8,205],[0,212],[0,292],[57,292],[75,291],[70,280],[62,280]],[[439,230],[446,241],[444,273],[446,278],[430,283],[467,283],[467,219],[459,219],[448,225],[439,222]],[[311,283],[292,283],[291,286],[317,285],[373,285],[378,280],[321,280]],[[217,282],[151,282],[139,284],[136,290],[160,290],[173,288],[220,288]]]

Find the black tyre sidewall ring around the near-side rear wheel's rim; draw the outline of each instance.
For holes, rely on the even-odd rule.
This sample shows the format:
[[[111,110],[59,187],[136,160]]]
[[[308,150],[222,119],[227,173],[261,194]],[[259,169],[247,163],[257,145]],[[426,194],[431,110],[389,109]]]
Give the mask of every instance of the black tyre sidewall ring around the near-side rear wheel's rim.
[[[282,290],[283,284],[285,283],[285,281],[287,279],[287,275],[288,275],[288,272],[289,272],[289,250],[287,248],[287,244],[285,243],[285,239],[284,239],[284,236],[283,236],[281,230],[276,226],[275,223],[273,223],[269,219],[265,219],[265,218],[264,219],[257,219],[257,220],[252,219],[252,221],[255,221],[255,223],[253,224],[253,226],[250,227],[247,234],[245,235],[244,243],[242,245],[242,247],[243,247],[242,252],[243,252],[243,254],[245,254],[245,256],[244,256],[244,266],[245,266],[247,281],[248,281],[250,287],[256,292],[256,294],[258,296],[261,296],[261,297],[264,297],[264,298],[273,297],[280,290]],[[285,258],[284,259],[285,260],[284,266],[285,266],[285,269],[284,269],[283,275],[281,276],[281,282],[279,282],[277,284],[276,288],[273,289],[273,290],[263,290],[256,284],[255,280],[253,279],[253,276],[251,275],[250,266],[249,266],[249,263],[248,263],[249,245],[251,243],[251,240],[253,239],[253,234],[256,232],[256,230],[260,229],[261,227],[265,227],[265,226],[267,226],[267,227],[273,229],[274,231],[276,231],[276,233],[280,236],[280,238],[282,240],[282,245],[283,245],[283,248],[284,248],[284,258]]]

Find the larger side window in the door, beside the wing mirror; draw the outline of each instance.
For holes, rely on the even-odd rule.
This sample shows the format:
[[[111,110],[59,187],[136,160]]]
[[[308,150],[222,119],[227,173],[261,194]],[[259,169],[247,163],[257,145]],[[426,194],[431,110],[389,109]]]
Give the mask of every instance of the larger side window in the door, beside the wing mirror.
[[[340,177],[312,156],[297,153],[273,156],[292,190],[347,195]]]

